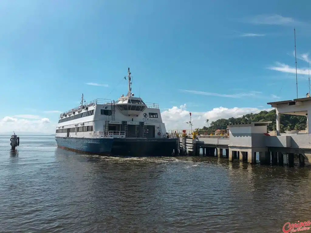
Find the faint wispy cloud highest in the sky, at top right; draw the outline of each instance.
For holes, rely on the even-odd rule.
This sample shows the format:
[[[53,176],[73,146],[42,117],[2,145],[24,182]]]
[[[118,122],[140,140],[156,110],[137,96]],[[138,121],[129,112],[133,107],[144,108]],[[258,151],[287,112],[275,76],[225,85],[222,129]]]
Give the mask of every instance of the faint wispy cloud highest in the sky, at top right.
[[[294,20],[290,17],[284,17],[281,15],[257,15],[251,17],[247,20],[249,23],[253,24],[268,24],[268,25],[293,25],[298,24],[299,21]]]

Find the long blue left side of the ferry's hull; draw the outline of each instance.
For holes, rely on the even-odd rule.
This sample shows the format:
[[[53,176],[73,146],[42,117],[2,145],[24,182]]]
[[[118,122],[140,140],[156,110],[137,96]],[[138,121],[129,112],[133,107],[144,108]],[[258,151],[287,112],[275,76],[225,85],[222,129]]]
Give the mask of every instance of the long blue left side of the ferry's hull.
[[[92,154],[110,153],[113,138],[55,137],[58,147]]]

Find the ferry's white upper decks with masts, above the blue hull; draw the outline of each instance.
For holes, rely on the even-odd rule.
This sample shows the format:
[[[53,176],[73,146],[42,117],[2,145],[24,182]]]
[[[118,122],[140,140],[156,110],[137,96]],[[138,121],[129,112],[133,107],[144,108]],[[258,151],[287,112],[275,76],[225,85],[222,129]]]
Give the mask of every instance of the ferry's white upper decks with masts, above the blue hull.
[[[128,94],[117,101],[95,99],[82,101],[79,107],[60,114],[56,137],[164,138],[159,104],[145,103],[131,92],[128,69]]]

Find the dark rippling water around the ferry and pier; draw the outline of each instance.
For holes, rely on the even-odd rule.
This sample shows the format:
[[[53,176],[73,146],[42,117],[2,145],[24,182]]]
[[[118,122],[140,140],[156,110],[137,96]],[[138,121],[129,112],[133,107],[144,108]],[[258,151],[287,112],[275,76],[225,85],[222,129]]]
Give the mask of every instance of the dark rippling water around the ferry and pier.
[[[311,221],[310,167],[111,158],[0,136],[1,232],[282,232]],[[306,231],[304,231],[306,232]]]

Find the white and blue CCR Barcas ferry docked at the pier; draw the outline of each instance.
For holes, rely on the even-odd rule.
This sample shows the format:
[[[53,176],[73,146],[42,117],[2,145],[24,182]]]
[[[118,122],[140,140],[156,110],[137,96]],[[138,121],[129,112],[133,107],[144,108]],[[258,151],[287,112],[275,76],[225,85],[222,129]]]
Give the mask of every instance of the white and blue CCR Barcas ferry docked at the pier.
[[[169,138],[159,104],[146,103],[132,93],[128,68],[128,94],[117,101],[95,99],[60,114],[55,140],[58,147],[114,156],[171,156],[178,139]]]

